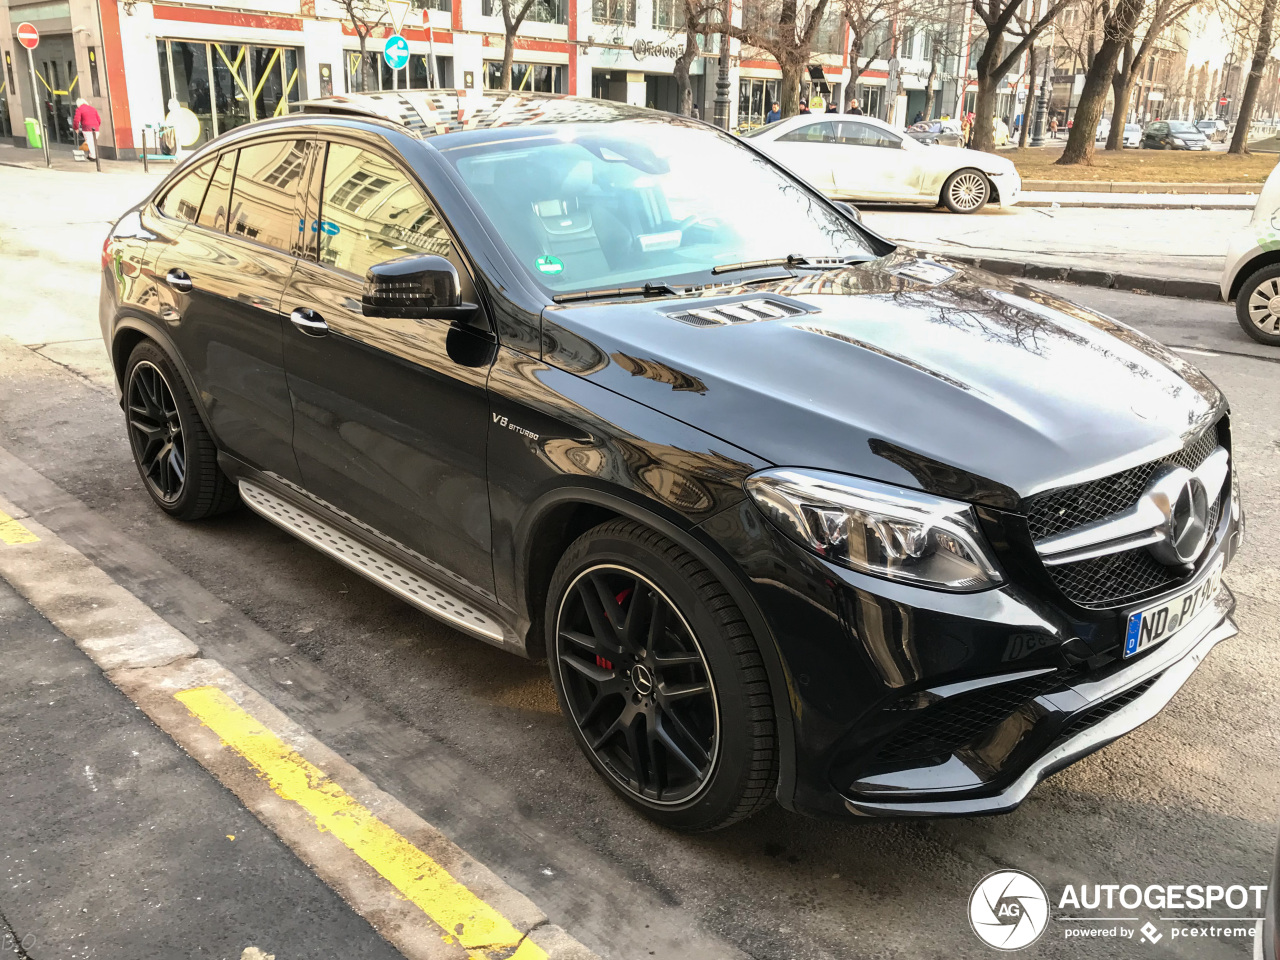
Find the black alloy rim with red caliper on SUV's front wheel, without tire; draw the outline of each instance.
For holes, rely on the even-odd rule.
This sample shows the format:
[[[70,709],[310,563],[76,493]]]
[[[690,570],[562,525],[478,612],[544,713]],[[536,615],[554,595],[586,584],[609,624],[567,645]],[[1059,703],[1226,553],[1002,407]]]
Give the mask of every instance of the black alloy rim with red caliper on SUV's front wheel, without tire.
[[[570,714],[618,783],[653,804],[707,786],[716,686],[689,623],[653,582],[614,564],[579,573],[561,603],[556,658]]]

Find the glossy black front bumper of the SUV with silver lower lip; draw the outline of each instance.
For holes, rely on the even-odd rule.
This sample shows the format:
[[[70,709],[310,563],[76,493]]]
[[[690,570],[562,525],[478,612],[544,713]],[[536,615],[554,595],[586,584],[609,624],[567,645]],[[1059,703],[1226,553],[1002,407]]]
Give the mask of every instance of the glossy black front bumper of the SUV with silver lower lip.
[[[1015,515],[979,516],[992,541],[1025,529]],[[790,707],[795,748],[778,800],[813,815],[1012,810],[1041,780],[1151,719],[1236,632],[1224,586],[1171,637],[1125,659],[1133,607],[1073,608],[1012,556],[1002,586],[947,594],[828,563],[751,502],[700,530],[736,562],[772,632],[787,684],[774,696]],[[1224,509],[1202,573],[1219,554],[1230,562],[1239,530]]]

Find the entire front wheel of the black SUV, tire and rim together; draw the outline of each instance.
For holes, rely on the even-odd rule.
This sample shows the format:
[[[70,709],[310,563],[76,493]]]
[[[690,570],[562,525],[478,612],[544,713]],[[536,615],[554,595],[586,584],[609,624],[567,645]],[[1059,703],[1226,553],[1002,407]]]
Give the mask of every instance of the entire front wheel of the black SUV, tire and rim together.
[[[690,832],[772,801],[777,732],[764,660],[696,557],[632,520],[602,524],[556,566],[545,630],[561,710],[623,800]]]

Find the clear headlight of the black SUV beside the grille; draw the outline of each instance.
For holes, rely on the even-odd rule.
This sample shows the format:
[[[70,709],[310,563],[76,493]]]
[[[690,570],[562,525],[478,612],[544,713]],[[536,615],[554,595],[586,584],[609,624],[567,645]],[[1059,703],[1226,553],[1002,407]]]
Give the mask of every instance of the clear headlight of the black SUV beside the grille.
[[[815,470],[764,470],[746,492],[796,543],[863,573],[936,590],[1001,582],[966,503]]]

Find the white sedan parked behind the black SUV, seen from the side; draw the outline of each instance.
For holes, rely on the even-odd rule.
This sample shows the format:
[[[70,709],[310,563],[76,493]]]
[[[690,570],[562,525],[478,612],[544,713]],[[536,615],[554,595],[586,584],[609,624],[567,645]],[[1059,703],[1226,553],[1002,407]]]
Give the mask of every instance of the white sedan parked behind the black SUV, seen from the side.
[[[945,204],[973,214],[988,201],[1012,206],[1023,188],[1002,156],[916,143],[870,116],[801,114],[746,137],[833,200]]]

